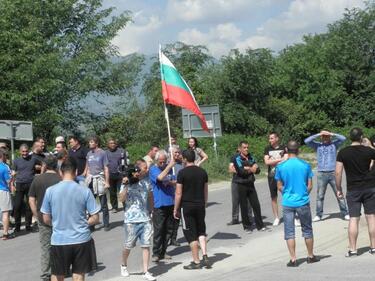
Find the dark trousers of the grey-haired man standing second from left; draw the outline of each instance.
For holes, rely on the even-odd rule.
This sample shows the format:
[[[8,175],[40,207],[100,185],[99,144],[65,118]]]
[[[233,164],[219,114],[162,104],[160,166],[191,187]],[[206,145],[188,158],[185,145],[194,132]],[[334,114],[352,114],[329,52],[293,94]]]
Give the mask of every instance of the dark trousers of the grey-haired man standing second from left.
[[[22,209],[25,208],[25,224],[31,226],[33,214],[29,206],[29,189],[31,183],[16,183],[16,196],[14,198],[14,220],[16,222],[16,230],[21,227]],[[26,199],[26,201],[25,201]]]

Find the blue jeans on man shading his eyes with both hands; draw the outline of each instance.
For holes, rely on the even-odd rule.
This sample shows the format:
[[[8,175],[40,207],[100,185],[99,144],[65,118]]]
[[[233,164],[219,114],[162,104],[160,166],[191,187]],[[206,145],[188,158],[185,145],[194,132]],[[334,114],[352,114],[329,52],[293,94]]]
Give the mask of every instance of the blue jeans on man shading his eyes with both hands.
[[[346,216],[348,214],[348,208],[346,206],[345,199],[338,199],[337,198],[337,189],[336,189],[336,181],[335,181],[335,172],[318,172],[318,193],[316,196],[316,215],[318,217],[323,216],[323,204],[324,204],[324,196],[326,194],[328,184],[331,186],[333,193],[337,199],[337,203],[340,207],[340,212],[342,216]]]

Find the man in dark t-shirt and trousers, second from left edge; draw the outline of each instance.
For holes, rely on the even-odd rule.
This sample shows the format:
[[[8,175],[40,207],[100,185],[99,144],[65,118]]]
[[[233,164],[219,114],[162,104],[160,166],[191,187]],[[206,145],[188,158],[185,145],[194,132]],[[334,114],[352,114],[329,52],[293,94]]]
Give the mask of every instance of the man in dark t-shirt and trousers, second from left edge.
[[[32,213],[29,206],[29,188],[31,182],[34,179],[36,167],[40,162],[33,156],[29,154],[29,147],[27,144],[22,144],[20,146],[21,157],[13,161],[12,168],[12,181],[11,186],[14,189],[14,181],[16,183],[15,190],[16,195],[14,199],[14,220],[16,223],[15,232],[19,232],[21,229],[21,211],[25,205],[26,197],[26,211],[25,211],[25,224],[26,230],[31,231],[31,220]]]

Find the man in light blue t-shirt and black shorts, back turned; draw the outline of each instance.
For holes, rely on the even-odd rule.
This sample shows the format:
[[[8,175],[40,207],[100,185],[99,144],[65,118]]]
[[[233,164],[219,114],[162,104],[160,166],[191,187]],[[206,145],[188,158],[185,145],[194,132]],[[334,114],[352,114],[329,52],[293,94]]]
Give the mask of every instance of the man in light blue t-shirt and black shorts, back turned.
[[[40,209],[44,223],[52,225],[52,280],[64,280],[70,266],[73,280],[84,280],[85,273],[97,268],[89,226],[98,223],[100,207],[90,189],[75,182],[76,171],[73,158],[62,163],[63,180],[47,189]]]

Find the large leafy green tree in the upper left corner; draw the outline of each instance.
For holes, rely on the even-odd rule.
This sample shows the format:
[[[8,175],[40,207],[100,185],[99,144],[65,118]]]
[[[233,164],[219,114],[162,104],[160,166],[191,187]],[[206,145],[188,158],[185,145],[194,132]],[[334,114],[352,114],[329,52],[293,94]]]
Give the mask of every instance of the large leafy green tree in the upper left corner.
[[[32,120],[48,137],[89,93],[123,94],[132,78],[111,41],[130,13],[113,10],[100,0],[0,0],[0,118]]]

